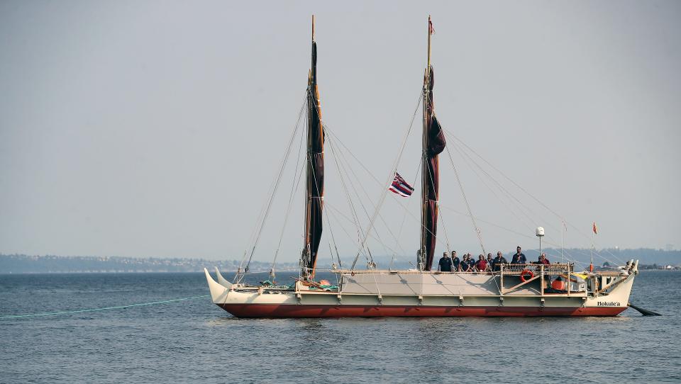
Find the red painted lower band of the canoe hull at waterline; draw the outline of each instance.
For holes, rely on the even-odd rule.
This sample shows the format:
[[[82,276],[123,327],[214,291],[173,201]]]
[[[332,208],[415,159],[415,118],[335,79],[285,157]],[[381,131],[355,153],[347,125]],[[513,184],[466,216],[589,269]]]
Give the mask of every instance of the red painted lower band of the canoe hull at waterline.
[[[616,316],[626,307],[435,307],[427,305],[218,304],[236,317]]]

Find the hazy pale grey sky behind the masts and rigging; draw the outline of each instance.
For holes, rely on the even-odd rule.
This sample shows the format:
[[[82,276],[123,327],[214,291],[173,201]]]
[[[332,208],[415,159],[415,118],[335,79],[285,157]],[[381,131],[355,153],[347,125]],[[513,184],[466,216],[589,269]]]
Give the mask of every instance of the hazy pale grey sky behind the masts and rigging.
[[[588,248],[594,221],[598,248],[681,247],[678,1],[1,1],[0,253],[240,259],[294,137],[253,257],[296,261],[313,13],[325,260],[358,252],[404,137],[419,178],[429,14],[438,249],[536,248],[540,225]],[[413,258],[418,184],[373,254]]]

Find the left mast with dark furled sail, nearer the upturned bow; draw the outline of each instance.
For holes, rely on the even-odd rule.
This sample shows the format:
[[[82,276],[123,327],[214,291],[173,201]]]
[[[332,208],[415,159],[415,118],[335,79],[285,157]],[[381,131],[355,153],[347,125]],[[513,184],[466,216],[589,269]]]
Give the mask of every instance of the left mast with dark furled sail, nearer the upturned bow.
[[[314,277],[321,239],[324,196],[324,132],[317,89],[317,44],[312,19],[312,65],[307,86],[307,170],[305,237],[301,256],[302,276]]]

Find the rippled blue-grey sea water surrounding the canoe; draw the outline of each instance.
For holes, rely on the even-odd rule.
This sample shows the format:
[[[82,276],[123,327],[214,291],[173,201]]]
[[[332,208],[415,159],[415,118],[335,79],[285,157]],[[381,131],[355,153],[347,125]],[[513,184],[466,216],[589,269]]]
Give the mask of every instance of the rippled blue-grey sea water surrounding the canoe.
[[[204,297],[0,319],[0,383],[681,382],[680,286],[637,276],[661,317],[240,320]],[[0,275],[0,316],[208,293],[201,273]]]

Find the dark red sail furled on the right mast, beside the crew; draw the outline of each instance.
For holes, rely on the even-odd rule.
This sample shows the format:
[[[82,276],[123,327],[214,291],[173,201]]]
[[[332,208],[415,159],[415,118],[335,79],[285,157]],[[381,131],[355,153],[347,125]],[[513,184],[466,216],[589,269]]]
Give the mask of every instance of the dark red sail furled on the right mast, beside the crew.
[[[421,181],[421,260],[423,270],[430,271],[438,233],[438,197],[440,162],[438,154],[445,149],[445,135],[433,111],[433,67],[426,71],[423,86],[423,172]]]

